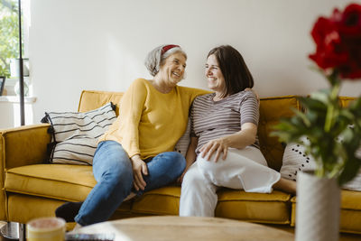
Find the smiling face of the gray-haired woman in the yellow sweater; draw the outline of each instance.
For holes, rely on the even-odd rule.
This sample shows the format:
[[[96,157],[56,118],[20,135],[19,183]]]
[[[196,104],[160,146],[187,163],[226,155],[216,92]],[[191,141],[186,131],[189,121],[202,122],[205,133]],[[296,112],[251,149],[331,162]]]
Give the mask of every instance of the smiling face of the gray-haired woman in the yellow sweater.
[[[186,69],[186,57],[181,52],[175,52],[164,60],[159,73],[162,79],[168,80],[169,84],[176,85],[183,79]]]

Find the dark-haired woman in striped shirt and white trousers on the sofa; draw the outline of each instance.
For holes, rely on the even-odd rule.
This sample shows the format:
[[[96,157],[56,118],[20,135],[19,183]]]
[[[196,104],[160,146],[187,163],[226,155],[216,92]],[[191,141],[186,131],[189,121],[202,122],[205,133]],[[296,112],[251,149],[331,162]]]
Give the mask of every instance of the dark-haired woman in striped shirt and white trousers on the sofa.
[[[253,88],[254,79],[242,55],[229,45],[214,48],[205,75],[215,93],[196,97],[191,108],[180,216],[213,217],[219,187],[265,193],[274,187],[294,193],[295,182],[268,168],[259,150],[258,100],[245,89]]]

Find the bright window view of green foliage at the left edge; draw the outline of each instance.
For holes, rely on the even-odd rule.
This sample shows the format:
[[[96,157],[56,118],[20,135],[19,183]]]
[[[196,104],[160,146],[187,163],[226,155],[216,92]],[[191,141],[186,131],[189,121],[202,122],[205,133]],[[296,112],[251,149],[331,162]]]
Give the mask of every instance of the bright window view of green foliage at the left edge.
[[[10,76],[10,59],[19,56],[18,14],[14,1],[0,0],[0,76]]]

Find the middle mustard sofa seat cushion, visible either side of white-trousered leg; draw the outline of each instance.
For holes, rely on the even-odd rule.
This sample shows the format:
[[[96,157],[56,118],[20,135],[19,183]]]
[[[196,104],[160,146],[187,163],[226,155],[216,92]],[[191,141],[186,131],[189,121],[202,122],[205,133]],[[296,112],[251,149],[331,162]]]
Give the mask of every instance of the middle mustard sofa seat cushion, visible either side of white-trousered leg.
[[[291,195],[274,190],[271,194],[240,190],[218,191],[216,217],[260,223],[289,224]],[[135,199],[132,212],[137,214],[178,215],[180,187],[170,186],[145,192]]]

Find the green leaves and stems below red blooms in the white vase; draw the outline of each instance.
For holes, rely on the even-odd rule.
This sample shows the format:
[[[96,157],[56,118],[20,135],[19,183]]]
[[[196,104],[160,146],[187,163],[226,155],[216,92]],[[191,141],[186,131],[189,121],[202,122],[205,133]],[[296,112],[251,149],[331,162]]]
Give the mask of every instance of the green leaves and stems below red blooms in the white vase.
[[[338,71],[334,70],[328,79],[331,88],[310,97],[298,97],[305,111],[293,109],[294,116],[282,118],[272,135],[286,143],[299,143],[301,137],[308,137],[310,143],[304,146],[317,162],[316,175],[338,177],[342,184],[352,180],[361,166],[361,160],[355,156],[361,144],[361,97],[348,107],[341,107]]]

